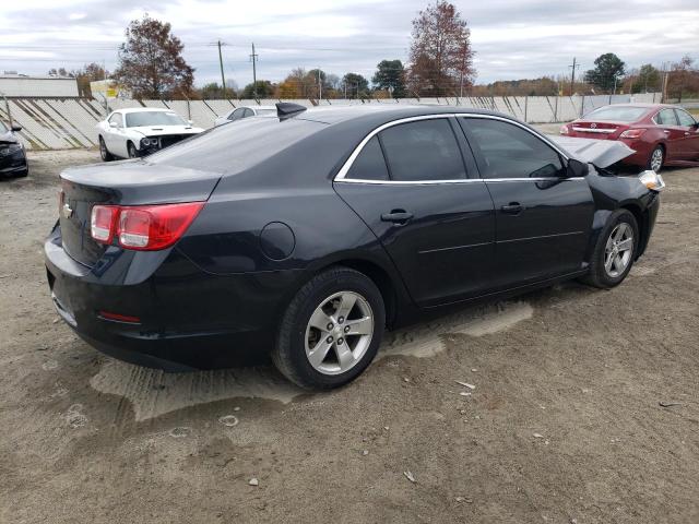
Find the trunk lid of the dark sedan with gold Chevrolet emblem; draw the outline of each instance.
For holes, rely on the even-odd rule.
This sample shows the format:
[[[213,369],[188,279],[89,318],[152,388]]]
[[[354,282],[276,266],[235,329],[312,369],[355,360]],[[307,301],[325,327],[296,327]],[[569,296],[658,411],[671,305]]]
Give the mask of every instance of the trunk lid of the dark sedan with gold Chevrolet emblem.
[[[60,178],[59,223],[63,249],[75,261],[92,267],[107,250],[107,246],[93,240],[90,234],[93,204],[201,202],[209,199],[221,175],[126,160],[67,169]]]

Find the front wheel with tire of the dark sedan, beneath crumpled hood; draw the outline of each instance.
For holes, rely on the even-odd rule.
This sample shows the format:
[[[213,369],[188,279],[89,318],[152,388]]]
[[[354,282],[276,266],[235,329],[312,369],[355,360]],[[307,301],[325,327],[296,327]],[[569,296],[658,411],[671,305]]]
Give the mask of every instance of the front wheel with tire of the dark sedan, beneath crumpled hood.
[[[628,210],[612,213],[597,238],[590,273],[583,282],[602,289],[621,284],[633,265],[638,242],[638,223],[633,214]]]

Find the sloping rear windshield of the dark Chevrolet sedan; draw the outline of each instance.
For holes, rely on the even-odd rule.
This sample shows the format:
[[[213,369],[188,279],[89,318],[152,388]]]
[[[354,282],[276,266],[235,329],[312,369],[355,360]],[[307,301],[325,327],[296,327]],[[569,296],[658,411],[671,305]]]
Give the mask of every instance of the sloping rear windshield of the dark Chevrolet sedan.
[[[323,129],[309,120],[246,118],[218,126],[147,157],[166,166],[232,174],[247,169]]]

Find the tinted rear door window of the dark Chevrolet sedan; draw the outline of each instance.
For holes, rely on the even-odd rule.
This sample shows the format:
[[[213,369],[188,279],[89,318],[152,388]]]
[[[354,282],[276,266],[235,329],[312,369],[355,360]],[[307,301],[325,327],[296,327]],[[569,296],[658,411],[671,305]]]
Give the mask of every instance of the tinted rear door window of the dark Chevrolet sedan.
[[[379,133],[392,180],[466,178],[457,138],[447,119],[401,123]]]

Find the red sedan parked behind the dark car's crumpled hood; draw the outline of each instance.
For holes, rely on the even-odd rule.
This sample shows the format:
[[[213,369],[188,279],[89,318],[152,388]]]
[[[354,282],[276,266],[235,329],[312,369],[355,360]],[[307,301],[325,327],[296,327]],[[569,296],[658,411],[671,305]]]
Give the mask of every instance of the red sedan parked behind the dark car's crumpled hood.
[[[682,107],[665,104],[604,106],[560,128],[560,134],[618,140],[636,153],[625,164],[660,171],[699,164],[699,122]]]

